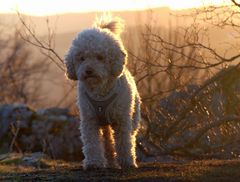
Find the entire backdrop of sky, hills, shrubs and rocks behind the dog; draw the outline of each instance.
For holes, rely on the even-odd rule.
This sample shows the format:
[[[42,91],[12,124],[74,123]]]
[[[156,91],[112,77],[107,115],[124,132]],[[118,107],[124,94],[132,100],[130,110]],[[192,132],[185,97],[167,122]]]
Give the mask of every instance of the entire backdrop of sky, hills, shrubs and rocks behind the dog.
[[[0,3],[2,158],[82,160],[76,83],[63,60],[103,12],[125,22],[121,38],[143,102],[138,159],[240,157],[240,2]]]

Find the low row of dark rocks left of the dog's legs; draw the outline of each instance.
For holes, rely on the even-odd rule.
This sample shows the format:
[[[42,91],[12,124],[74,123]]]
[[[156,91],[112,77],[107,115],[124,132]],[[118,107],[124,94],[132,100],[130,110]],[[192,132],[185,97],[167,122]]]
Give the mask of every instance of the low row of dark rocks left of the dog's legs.
[[[83,159],[79,119],[66,108],[35,112],[25,105],[1,105],[0,126],[0,154],[44,152],[54,159]]]

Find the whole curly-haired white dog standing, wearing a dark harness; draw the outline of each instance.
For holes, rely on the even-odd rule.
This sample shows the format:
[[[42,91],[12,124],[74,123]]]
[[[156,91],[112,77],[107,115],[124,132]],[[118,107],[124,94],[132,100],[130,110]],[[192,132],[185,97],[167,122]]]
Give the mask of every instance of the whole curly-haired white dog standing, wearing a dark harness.
[[[118,18],[98,20],[77,35],[65,57],[68,78],[78,80],[84,169],[137,167],[141,101],[126,68],[122,27]]]

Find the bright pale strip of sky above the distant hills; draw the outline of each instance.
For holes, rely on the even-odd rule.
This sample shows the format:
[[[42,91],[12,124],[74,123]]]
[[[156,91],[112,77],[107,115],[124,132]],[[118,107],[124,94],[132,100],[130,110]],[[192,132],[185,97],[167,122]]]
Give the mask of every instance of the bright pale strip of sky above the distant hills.
[[[230,1],[230,0],[228,0]],[[0,13],[46,16],[61,13],[139,10],[155,7],[187,9],[203,5],[221,5],[227,0],[0,0]]]

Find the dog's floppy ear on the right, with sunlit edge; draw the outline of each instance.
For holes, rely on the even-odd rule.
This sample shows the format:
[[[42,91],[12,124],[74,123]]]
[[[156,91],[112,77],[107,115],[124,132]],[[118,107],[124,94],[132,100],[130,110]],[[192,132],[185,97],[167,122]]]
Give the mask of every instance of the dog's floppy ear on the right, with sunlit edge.
[[[112,75],[114,77],[119,77],[126,65],[127,62],[127,54],[123,51],[121,51],[121,55],[119,56],[119,58],[117,60],[114,60],[112,63]]]

